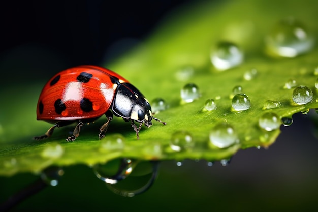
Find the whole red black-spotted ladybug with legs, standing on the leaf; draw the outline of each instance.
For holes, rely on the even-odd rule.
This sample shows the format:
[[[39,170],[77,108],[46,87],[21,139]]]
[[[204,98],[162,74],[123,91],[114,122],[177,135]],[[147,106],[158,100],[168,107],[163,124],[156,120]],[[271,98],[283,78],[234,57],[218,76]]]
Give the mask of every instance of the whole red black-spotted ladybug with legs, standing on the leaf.
[[[55,128],[77,123],[73,136],[66,139],[74,141],[81,126],[101,117],[107,122],[101,127],[99,138],[113,119],[113,114],[131,121],[137,139],[142,124],[152,125],[151,120],[161,120],[152,116],[151,106],[142,93],[128,80],[115,72],[99,66],[77,66],[56,74],[44,86],[38,101],[37,120],[54,124],[44,135],[34,137],[42,140],[50,137]],[[135,122],[140,123],[139,127]],[[165,122],[161,122],[166,125]]]

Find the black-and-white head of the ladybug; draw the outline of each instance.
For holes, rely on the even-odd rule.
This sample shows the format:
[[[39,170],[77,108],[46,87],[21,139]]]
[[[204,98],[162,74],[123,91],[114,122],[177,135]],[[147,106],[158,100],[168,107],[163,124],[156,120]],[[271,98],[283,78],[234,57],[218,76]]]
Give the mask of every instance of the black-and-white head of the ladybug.
[[[138,98],[136,104],[132,110],[131,117],[132,120],[136,120],[136,122],[145,123],[146,127],[150,127],[152,125],[152,112],[151,106],[146,98]]]

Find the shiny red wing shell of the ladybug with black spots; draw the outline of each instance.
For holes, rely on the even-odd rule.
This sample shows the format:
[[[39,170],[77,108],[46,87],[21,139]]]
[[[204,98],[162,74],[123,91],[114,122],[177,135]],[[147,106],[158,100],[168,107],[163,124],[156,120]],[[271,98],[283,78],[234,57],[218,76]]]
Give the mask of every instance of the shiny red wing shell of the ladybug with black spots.
[[[128,82],[98,66],[78,66],[56,74],[44,86],[37,120],[98,118],[110,108],[117,85]]]

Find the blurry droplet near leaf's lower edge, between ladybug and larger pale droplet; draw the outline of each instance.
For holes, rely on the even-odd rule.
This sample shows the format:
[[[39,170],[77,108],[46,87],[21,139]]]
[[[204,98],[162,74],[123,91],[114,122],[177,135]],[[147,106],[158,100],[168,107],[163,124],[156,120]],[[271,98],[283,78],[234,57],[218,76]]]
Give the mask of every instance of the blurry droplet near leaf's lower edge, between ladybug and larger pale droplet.
[[[194,147],[194,141],[192,140],[190,133],[186,131],[177,131],[171,136],[170,147],[175,152],[190,150]]]

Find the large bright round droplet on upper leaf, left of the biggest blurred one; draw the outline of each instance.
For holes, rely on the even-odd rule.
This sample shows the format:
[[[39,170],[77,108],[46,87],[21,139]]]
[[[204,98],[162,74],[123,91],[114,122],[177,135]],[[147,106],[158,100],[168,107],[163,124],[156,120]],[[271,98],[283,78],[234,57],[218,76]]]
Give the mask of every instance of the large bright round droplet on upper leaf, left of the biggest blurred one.
[[[231,42],[220,42],[211,52],[211,62],[219,71],[238,66],[243,62],[243,52]]]

